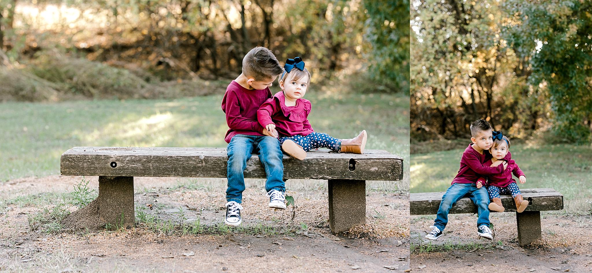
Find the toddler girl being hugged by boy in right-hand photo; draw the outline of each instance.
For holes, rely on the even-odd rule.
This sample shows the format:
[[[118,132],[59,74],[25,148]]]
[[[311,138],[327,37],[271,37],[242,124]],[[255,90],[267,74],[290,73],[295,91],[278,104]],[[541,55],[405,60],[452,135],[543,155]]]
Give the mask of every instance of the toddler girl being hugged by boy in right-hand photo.
[[[491,158],[491,161],[485,162],[486,166],[493,164],[497,160],[503,159],[510,149],[510,139],[503,136],[501,131],[493,132],[493,140],[493,145],[489,149],[493,158]],[[516,175],[520,184],[525,184],[526,176],[524,175],[524,172],[522,172],[516,162],[510,158],[506,171],[498,175],[491,175],[487,178],[487,191],[489,192],[489,198],[491,199],[491,203],[489,204],[490,210],[498,211],[500,213],[505,210],[503,205],[501,205],[500,194],[511,194],[516,203],[516,211],[519,213],[524,211],[528,206],[528,201],[522,198],[522,193],[520,192],[516,181],[512,178],[512,174]],[[477,188],[481,188],[484,182],[485,179],[480,178],[477,181]]]

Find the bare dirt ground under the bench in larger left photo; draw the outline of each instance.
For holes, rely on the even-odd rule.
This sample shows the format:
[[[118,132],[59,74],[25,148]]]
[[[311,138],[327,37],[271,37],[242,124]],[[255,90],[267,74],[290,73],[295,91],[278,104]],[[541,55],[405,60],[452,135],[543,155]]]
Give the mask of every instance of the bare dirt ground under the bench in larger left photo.
[[[96,177],[91,186],[98,187]],[[44,192],[69,192],[78,176],[23,178],[0,184],[0,198]],[[0,272],[403,272],[409,270],[408,197],[369,190],[366,225],[344,236],[330,233],[326,181],[303,181],[294,196],[294,220],[288,210],[266,207],[262,181],[247,181],[243,226],[275,232],[166,235],[139,227],[114,232],[52,233],[31,231],[28,216],[43,207],[12,202],[0,211]],[[136,207],[159,219],[200,220],[219,226],[224,216],[224,179],[135,178]],[[324,184],[323,184],[324,183]],[[173,187],[185,184],[186,187]],[[250,185],[249,185],[250,184]],[[311,187],[312,185],[312,187]],[[35,200],[35,198],[32,198]],[[8,202],[9,203],[9,202]],[[149,205],[153,208],[149,209]],[[74,209],[72,209],[74,210]],[[181,212],[182,211],[182,212]],[[137,220],[137,219],[136,219]],[[303,226],[304,224],[304,226]],[[299,232],[289,232],[299,229]],[[288,232],[286,232],[288,230]]]

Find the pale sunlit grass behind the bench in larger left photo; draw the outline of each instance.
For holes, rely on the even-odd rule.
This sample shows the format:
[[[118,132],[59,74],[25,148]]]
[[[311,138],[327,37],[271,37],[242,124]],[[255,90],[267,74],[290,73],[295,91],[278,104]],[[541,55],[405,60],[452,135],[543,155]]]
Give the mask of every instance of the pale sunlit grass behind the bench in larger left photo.
[[[275,88],[275,86],[274,86]],[[404,94],[356,94],[338,87],[307,94],[316,131],[350,138],[366,129],[366,149],[409,159],[409,100]],[[276,91],[274,89],[274,91]],[[4,102],[0,107],[0,181],[59,174],[60,156],[74,146],[226,147],[222,95],[179,99]],[[398,183],[369,183],[408,190]]]

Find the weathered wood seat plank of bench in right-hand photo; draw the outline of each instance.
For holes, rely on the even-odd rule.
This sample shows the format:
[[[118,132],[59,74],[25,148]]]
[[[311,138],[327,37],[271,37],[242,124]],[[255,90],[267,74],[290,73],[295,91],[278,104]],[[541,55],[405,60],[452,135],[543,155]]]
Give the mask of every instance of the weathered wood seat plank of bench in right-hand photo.
[[[521,189],[529,201],[525,211],[562,210],[563,195],[552,188]],[[410,194],[410,214],[436,214],[445,192],[422,192]],[[510,195],[500,195],[506,212],[516,211],[516,204]],[[493,212],[493,211],[492,211]],[[468,198],[462,198],[452,206],[450,213],[477,213],[477,206]]]

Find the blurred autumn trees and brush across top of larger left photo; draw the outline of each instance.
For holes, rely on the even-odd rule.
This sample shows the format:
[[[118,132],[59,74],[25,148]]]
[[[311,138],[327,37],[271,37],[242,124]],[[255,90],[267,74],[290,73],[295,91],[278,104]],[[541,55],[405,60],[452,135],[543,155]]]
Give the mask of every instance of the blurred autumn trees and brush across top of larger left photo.
[[[235,78],[254,46],[282,63],[302,56],[313,82],[408,92],[408,10],[408,1],[0,0],[0,79],[12,82],[0,99],[191,95],[187,85]]]

